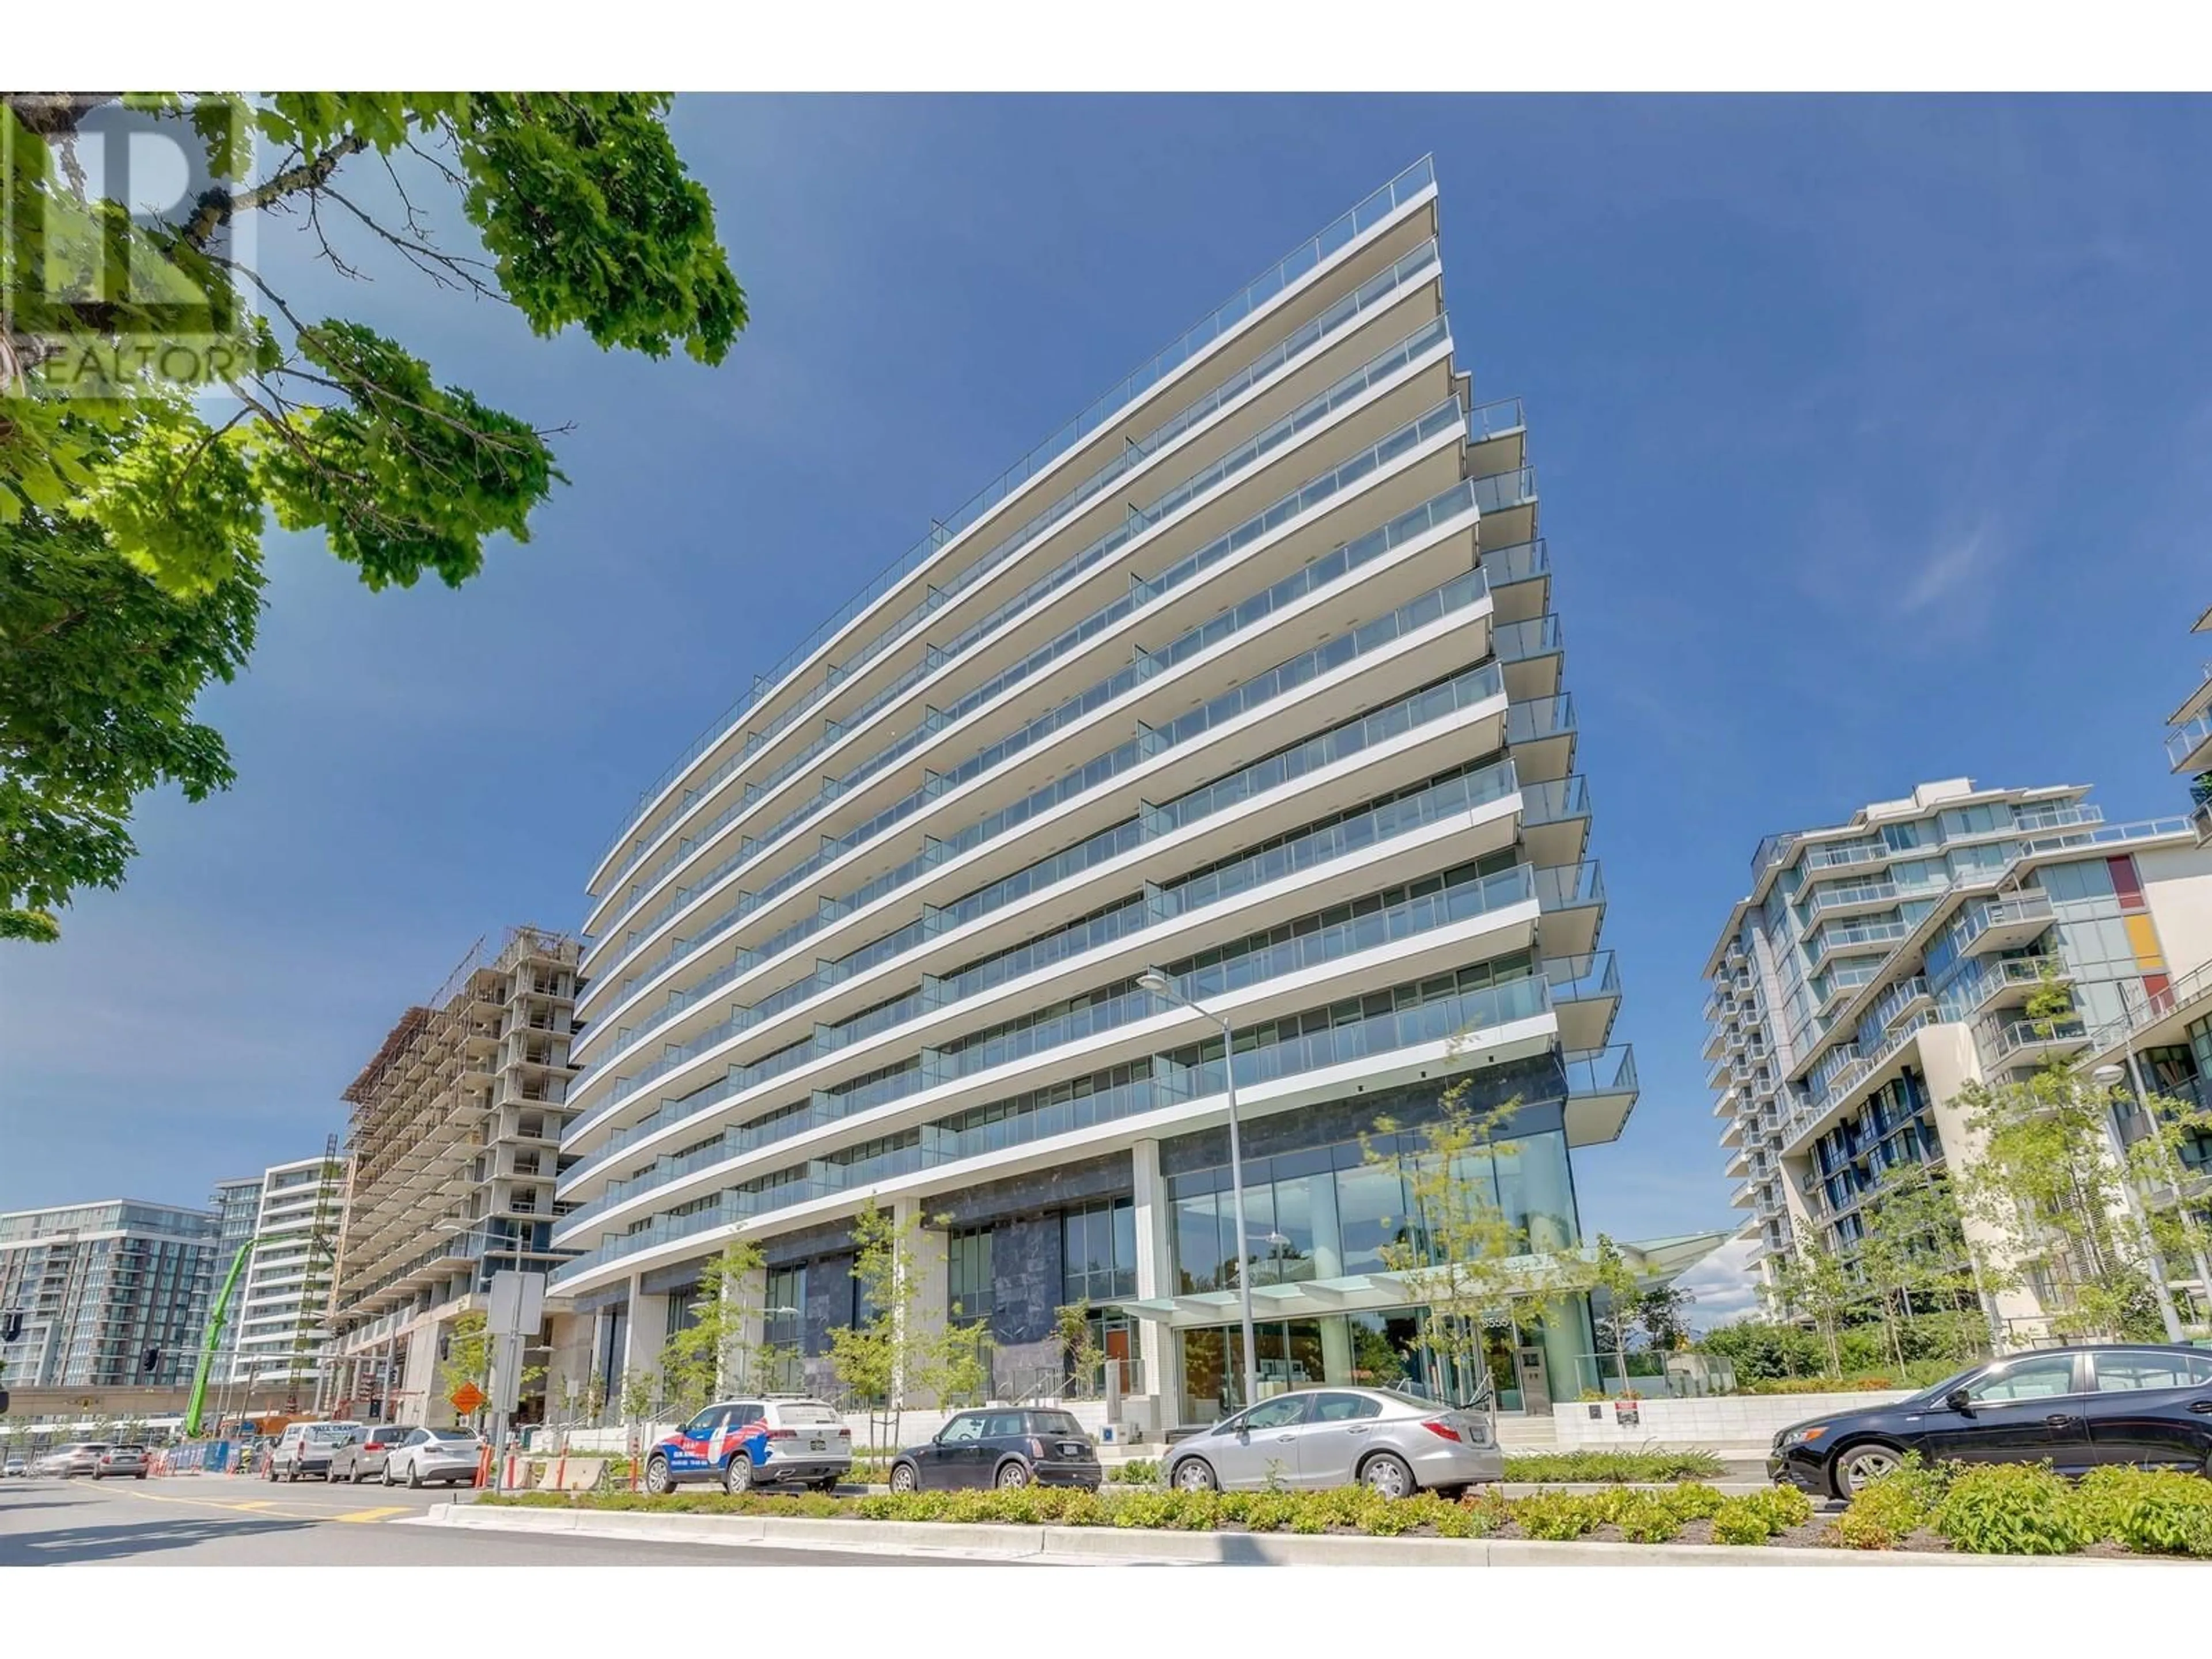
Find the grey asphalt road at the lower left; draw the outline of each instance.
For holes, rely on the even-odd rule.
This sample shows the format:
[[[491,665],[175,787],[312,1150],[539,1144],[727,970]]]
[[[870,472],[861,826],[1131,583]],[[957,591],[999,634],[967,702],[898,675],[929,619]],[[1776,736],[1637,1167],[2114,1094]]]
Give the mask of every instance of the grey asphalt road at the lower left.
[[[0,1482],[0,1566],[989,1566],[745,1544],[630,1544],[396,1526],[445,1491],[226,1475]]]

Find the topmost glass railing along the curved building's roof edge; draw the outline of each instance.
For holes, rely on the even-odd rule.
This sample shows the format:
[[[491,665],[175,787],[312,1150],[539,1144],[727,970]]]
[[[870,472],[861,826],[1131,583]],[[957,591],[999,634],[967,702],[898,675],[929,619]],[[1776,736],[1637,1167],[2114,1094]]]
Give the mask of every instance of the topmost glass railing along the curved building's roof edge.
[[[1418,179],[1418,184],[1407,184],[1409,179]],[[1378,190],[1365,204],[1360,204],[1349,215],[1338,219],[1336,226],[1307,241],[1296,254],[1290,254],[1283,261],[1279,261],[1274,270],[1270,270],[1267,274],[1248,283],[1237,299],[1223,303],[1208,319],[1190,327],[1175,345],[1170,345],[1168,349],[1157,354],[1150,363],[1146,363],[1141,369],[1124,378],[1119,387],[1095,400],[1091,409],[1086,409],[1082,416],[1077,416],[1057,434],[1053,434],[1042,445],[1031,449],[1029,456],[1024,456],[1006,473],[1002,473],[998,482],[989,484],[987,489],[969,498],[969,502],[958,511],[953,511],[951,518],[933,522],[929,535],[925,535],[920,542],[907,549],[905,555],[900,555],[883,573],[878,573],[865,588],[860,588],[860,593],[856,593],[852,599],[838,606],[805,639],[792,646],[774,668],[770,668],[765,675],[754,675],[752,686],[728,710],[723,710],[721,719],[717,719],[697,739],[692,739],[690,748],[686,748],[684,754],[679,754],[675,763],[670,763],[668,770],[661,772],[659,779],[655,779],[650,785],[646,785],[644,792],[639,792],[637,796],[639,812],[644,812],[655,796],[659,796],[677,776],[681,776],[684,768],[688,768],[692,761],[697,761],[701,754],[714,748],[714,743],[719,743],[721,737],[732,726],[737,726],[737,721],[741,721],[748,710],[752,710],[757,703],[761,703],[761,699],[779,690],[783,681],[790,679],[790,675],[801,664],[805,664],[816,650],[821,650],[821,646],[827,644],[838,630],[843,630],[845,624],[849,624],[854,617],[867,611],[867,606],[872,606],[885,593],[896,588],[905,577],[914,575],[914,571],[918,571],[922,564],[936,557],[958,535],[975,526],[984,515],[989,515],[1002,500],[1013,495],[1022,484],[1026,484],[1044,469],[1053,467],[1062,456],[1066,456],[1079,442],[1091,438],[1099,427],[1115,420],[1124,409],[1128,409],[1137,398],[1150,392],[1172,369],[1188,363],[1197,352],[1201,352],[1212,341],[1221,338],[1221,334],[1225,334],[1245,316],[1250,316],[1254,310],[1259,310],[1270,299],[1281,294],[1290,283],[1305,276],[1323,259],[1327,259],[1338,248],[1349,243],[1356,234],[1387,219],[1405,201],[1409,201],[1420,190],[1427,190],[1431,184],[1436,184],[1436,175],[1427,161],[1418,161],[1416,166],[1407,168],[1398,179],[1383,186],[1383,190]],[[1369,206],[1376,201],[1383,201],[1385,208],[1378,215],[1369,217]],[[1349,230],[1345,230],[1334,243],[1327,241],[1332,234],[1336,234],[1340,226],[1349,226]],[[1429,259],[1433,263],[1433,243],[1429,250]],[[962,573],[962,580],[964,577],[967,573]],[[617,834],[615,841],[608,845],[608,854],[617,845],[622,845],[622,834]]]

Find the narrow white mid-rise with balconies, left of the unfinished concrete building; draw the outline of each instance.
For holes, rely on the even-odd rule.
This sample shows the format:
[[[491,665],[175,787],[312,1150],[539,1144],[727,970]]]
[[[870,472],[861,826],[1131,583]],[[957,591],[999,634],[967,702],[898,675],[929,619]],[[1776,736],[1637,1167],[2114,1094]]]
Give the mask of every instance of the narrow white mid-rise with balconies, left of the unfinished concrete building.
[[[217,1290],[237,1252],[250,1239],[259,1243],[232,1294],[212,1376],[221,1383],[312,1391],[323,1371],[330,1270],[345,1214],[345,1164],[332,1148],[325,1157],[221,1181],[215,1188],[215,1210],[221,1217]]]

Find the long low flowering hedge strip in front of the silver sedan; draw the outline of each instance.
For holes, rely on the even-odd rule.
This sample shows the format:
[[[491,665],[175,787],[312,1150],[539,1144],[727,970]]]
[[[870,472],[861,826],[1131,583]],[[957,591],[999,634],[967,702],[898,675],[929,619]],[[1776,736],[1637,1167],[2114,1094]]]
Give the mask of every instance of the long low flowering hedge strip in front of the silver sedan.
[[[925,1491],[872,1498],[816,1498],[719,1491],[670,1493],[507,1493],[480,1504],[513,1509],[613,1509],[677,1515],[792,1515],[812,1520],[1002,1522],[1020,1526],[1119,1526],[1177,1533],[1358,1533],[1367,1537],[1590,1537],[1606,1533],[1639,1544],[1670,1540],[1765,1544],[1812,1520],[1805,1493],[1774,1486],[1739,1498],[1712,1486],[1666,1491],[1540,1491],[1449,1502],[1436,1493],[1383,1498],[1365,1486],[1332,1491]]]

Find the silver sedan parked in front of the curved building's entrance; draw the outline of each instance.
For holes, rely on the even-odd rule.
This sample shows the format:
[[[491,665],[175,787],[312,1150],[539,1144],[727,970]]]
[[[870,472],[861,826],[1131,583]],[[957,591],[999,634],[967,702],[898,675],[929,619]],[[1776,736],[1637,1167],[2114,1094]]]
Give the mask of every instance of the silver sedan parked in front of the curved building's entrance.
[[[1239,1411],[1168,1451],[1181,1491],[1371,1486],[1385,1498],[1447,1498],[1504,1480],[1486,1407],[1451,1407],[1396,1389],[1298,1389]]]

